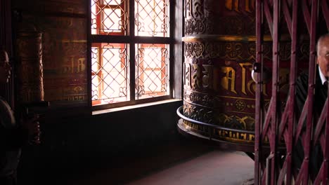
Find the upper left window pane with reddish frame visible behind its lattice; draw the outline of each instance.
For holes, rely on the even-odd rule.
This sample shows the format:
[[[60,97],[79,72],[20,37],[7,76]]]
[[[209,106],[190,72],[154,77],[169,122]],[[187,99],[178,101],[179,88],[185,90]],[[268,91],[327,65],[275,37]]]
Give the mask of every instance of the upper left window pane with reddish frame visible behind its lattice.
[[[127,0],[91,0],[91,34],[126,35]]]

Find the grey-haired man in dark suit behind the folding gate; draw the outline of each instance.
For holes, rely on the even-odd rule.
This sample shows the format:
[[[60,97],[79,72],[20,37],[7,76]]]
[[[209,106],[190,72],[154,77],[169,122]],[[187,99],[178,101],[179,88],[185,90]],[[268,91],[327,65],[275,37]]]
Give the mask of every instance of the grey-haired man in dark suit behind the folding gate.
[[[315,80],[315,94],[314,94],[314,116],[318,118],[323,109],[323,105],[328,96],[328,67],[329,67],[329,34],[325,34],[318,39],[317,43],[317,59],[316,59],[316,80]],[[304,103],[307,100],[309,75],[302,73],[297,78],[296,83],[296,104],[297,104],[297,118],[302,114]],[[306,123],[304,123],[306,124]],[[304,125],[305,127],[305,125]],[[314,125],[314,128],[316,125]],[[296,129],[296,128],[295,128]],[[293,161],[295,167],[299,168],[304,159],[304,148],[299,139],[295,147]],[[319,144],[312,148],[310,158],[311,176],[313,178],[320,170],[323,162],[323,153]]]

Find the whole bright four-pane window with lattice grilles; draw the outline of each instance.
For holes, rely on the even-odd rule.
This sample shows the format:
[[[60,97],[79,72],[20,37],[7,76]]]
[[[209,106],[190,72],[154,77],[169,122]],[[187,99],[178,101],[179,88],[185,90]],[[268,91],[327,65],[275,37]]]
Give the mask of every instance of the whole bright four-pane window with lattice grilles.
[[[172,98],[169,0],[91,0],[90,8],[92,106]]]

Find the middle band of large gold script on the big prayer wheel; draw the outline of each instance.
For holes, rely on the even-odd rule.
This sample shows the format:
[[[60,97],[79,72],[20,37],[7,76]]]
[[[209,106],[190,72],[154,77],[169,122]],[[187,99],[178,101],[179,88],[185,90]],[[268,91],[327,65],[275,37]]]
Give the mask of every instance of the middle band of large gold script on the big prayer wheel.
[[[232,65],[227,61],[227,66],[218,67],[210,64],[184,63],[184,81],[186,88],[191,90],[214,90],[221,89],[231,93],[245,96],[254,96],[256,83],[251,78],[252,63],[241,62]],[[239,76],[239,78],[237,78]],[[286,70],[280,70],[280,84],[288,83]],[[263,94],[267,96],[266,84],[263,85]]]

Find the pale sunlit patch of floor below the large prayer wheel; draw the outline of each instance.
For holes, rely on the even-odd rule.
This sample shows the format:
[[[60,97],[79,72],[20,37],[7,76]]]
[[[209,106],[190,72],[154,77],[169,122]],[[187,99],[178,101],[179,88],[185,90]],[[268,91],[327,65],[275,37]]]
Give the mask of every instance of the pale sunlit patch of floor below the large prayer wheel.
[[[141,179],[130,181],[128,184],[241,185],[253,175],[254,163],[251,158],[236,152],[211,151],[159,172],[148,174]]]

